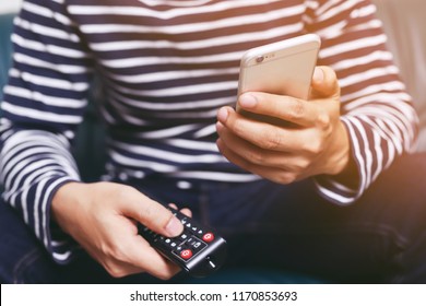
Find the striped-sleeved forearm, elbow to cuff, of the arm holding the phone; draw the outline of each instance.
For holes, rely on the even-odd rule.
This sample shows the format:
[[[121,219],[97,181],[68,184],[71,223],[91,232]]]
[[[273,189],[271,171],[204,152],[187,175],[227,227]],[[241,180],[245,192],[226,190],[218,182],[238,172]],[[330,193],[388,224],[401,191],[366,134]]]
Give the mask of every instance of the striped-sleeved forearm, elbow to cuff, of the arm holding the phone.
[[[316,177],[321,195],[339,204],[350,204],[399,155],[413,151],[417,130],[416,114],[404,103],[397,103],[395,109],[399,111],[392,111],[388,116],[363,114],[343,118],[351,139],[350,164],[346,170],[336,176]]]

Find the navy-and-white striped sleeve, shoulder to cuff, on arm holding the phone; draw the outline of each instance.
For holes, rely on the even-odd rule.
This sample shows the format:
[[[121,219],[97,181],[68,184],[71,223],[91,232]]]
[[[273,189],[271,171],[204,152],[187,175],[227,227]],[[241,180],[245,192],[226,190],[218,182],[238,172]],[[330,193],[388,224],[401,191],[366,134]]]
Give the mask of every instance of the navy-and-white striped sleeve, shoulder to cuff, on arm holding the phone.
[[[322,38],[319,64],[341,86],[341,120],[351,139],[354,173],[317,176],[319,192],[338,204],[356,201],[394,158],[415,148],[417,115],[386,46],[370,1],[307,1],[306,28]]]

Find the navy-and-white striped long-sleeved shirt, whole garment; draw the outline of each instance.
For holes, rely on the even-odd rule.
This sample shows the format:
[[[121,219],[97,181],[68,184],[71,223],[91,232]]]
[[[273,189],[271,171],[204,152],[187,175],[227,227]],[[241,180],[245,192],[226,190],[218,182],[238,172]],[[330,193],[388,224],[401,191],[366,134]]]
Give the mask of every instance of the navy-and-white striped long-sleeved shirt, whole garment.
[[[24,1],[1,103],[3,198],[58,262],[69,260],[49,209],[58,187],[80,180],[70,146],[94,74],[110,177],[260,179],[220,154],[216,111],[235,105],[244,51],[305,33],[321,36],[318,64],[338,73],[359,173],[356,189],[315,179],[322,196],[353,202],[411,150],[417,120],[375,7],[362,0]]]

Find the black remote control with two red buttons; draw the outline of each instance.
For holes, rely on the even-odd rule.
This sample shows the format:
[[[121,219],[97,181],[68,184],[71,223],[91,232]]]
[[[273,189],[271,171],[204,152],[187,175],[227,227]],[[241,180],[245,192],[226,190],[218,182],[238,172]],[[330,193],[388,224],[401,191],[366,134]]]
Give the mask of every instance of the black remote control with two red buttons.
[[[225,239],[181,212],[170,210],[184,224],[182,234],[169,238],[142,224],[139,225],[139,234],[192,276],[206,276],[221,268],[226,258]]]

